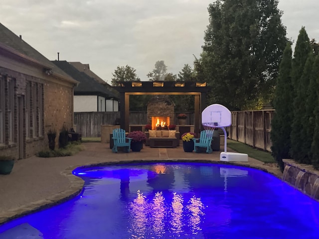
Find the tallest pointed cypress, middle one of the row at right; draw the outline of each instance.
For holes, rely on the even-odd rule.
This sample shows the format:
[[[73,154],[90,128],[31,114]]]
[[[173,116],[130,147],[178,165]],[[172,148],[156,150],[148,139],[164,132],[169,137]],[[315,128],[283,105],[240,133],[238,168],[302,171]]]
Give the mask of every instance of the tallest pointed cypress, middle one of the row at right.
[[[307,91],[309,78],[307,72],[304,72],[305,64],[312,47],[305,27],[299,31],[294,58],[292,60],[292,82],[294,86],[294,117],[291,131],[291,156],[298,162],[308,162],[308,156],[303,150],[303,141],[305,140],[305,104],[307,101]],[[303,74],[305,77],[302,77]]]

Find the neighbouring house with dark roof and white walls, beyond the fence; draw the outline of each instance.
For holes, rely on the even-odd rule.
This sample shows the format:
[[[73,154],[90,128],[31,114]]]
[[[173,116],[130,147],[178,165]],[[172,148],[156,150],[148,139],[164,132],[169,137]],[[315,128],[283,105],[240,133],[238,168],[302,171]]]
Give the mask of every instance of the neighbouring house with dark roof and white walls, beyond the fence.
[[[74,112],[117,112],[117,97],[84,72],[67,61],[52,61],[79,82],[74,88]]]

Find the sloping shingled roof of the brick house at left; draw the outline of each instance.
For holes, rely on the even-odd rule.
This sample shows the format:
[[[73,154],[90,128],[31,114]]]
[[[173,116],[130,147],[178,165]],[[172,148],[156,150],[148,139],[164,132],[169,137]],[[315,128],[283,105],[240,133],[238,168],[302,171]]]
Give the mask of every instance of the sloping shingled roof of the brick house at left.
[[[59,69],[55,64],[53,64],[49,59],[27,44],[22,37],[15,35],[12,31],[6,28],[0,23],[0,46],[2,49],[6,47],[7,51],[22,57],[28,61],[33,61],[33,63],[41,64],[42,67],[48,68],[53,74],[56,74],[63,79],[76,84],[77,82],[68,74]]]

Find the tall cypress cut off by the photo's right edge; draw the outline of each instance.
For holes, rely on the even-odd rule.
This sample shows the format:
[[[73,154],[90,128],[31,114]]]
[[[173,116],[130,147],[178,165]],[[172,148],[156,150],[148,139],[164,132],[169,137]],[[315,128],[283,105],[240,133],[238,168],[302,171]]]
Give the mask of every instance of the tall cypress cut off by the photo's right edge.
[[[319,55],[317,55],[314,67],[313,74],[311,79],[311,84],[309,88],[312,87],[312,90],[316,91],[316,100],[314,101],[314,118],[310,119],[311,122],[314,120],[315,127],[313,129],[313,141],[311,145],[310,158],[312,164],[315,168],[319,168]],[[310,129],[311,130],[311,129]]]

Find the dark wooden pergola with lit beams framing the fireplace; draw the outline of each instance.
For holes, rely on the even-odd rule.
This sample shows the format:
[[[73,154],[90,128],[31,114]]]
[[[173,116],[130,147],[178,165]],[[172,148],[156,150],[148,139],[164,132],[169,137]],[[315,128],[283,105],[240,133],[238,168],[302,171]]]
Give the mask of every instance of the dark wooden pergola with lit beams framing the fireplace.
[[[206,93],[211,89],[206,82],[176,81],[119,81],[113,87],[120,93],[120,125],[130,130],[130,95],[193,95],[195,100],[194,131],[201,128],[201,112],[206,108]]]

